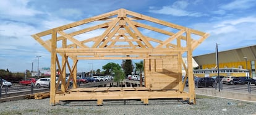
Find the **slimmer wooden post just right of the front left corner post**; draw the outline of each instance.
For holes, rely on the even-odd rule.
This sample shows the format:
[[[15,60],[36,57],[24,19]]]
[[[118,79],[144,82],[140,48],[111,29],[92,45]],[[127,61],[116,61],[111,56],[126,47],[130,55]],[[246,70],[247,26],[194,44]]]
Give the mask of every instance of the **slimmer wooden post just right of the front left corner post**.
[[[67,48],[67,38],[63,38],[62,40],[62,48]],[[62,56],[62,66],[64,66],[64,69],[62,70],[62,81],[61,81],[61,92],[65,92],[65,87],[66,87],[66,61],[67,56],[64,54]]]

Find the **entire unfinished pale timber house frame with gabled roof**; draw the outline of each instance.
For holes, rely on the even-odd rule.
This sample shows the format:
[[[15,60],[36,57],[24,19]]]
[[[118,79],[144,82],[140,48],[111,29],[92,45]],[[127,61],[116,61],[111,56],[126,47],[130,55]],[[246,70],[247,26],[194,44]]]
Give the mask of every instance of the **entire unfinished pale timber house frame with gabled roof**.
[[[97,36],[92,36],[93,32]],[[195,104],[192,51],[208,36],[126,9],[32,35],[51,53],[51,105],[61,100],[97,100],[102,104],[103,100],[126,99],[141,99],[148,104],[152,98],[182,98]],[[187,57],[187,67],[182,56]],[[70,72],[69,80],[76,79],[77,62],[81,59],[143,59],[145,87],[77,88],[74,80],[72,89],[68,89],[66,70]],[[57,93],[57,67],[61,73],[57,83],[61,82],[61,93]],[[184,82],[182,67],[186,70]],[[184,92],[186,79],[189,92]]]

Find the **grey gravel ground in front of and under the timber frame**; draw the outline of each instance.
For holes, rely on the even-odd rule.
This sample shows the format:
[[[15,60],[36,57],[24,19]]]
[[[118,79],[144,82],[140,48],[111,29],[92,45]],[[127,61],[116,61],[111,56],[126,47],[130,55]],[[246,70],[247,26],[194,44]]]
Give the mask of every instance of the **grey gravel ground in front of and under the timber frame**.
[[[197,104],[182,100],[61,101],[49,105],[43,100],[19,100],[0,103],[0,114],[256,114],[256,103],[197,95]]]

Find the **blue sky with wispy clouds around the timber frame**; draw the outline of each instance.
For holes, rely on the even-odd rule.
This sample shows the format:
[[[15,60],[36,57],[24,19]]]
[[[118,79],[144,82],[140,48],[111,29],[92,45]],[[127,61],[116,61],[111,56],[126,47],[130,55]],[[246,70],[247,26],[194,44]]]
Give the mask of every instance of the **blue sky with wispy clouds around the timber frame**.
[[[210,33],[193,56],[256,44],[255,0],[12,0],[0,4],[0,69],[12,72],[50,66],[51,55],[33,35],[70,22],[124,8],[184,27]],[[101,69],[108,62],[79,61],[78,71]],[[93,65],[90,65],[92,63]]]

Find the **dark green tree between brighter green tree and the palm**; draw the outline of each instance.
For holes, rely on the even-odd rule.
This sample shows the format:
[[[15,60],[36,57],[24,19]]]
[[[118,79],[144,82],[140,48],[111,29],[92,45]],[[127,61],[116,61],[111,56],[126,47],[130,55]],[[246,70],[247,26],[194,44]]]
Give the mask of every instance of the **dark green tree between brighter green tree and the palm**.
[[[134,70],[134,65],[132,65],[132,60],[130,59],[122,60],[122,69],[124,70],[124,73],[126,76],[130,75]]]

